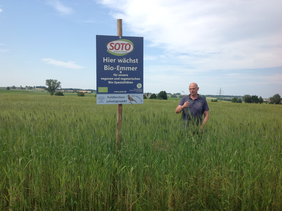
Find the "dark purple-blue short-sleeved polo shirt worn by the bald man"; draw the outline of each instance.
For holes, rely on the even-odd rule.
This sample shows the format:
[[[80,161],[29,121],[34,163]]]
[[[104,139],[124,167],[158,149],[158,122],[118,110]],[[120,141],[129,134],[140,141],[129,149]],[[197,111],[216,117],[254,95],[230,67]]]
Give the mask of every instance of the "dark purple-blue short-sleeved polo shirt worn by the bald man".
[[[199,96],[193,100],[190,95],[188,96],[184,96],[182,97],[182,99],[180,100],[179,105],[184,105],[185,102],[189,102],[189,108],[184,108],[182,111],[182,118],[183,121],[186,122],[187,124],[191,121],[191,116],[192,116],[192,120],[194,119],[194,122],[191,121],[191,123],[196,123],[197,121],[197,125],[199,125],[199,123],[202,123],[202,117],[203,117],[203,113],[204,111],[210,110],[208,107],[208,103],[206,101],[206,99],[204,99],[203,97]],[[189,109],[190,109],[190,114],[189,114]]]

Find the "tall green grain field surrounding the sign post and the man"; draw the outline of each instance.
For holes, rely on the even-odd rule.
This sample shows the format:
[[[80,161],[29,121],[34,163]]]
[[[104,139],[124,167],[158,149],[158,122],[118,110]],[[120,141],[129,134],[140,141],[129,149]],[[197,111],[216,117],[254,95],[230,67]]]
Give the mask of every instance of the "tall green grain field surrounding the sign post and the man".
[[[282,210],[282,106],[210,102],[203,134],[179,101],[0,94],[0,210]]]

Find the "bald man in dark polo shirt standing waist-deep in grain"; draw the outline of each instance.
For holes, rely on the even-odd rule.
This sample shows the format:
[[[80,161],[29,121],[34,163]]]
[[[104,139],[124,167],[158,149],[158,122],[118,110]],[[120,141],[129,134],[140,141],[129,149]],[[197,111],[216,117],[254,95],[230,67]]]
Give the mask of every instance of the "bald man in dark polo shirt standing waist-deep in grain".
[[[182,112],[184,124],[186,124],[186,122],[187,125],[189,125],[189,123],[195,125],[201,124],[201,129],[203,129],[204,125],[208,122],[210,114],[208,103],[206,99],[199,96],[198,90],[198,85],[196,83],[191,83],[189,85],[190,95],[182,97],[175,112],[177,114]],[[202,119],[203,114],[204,120]]]

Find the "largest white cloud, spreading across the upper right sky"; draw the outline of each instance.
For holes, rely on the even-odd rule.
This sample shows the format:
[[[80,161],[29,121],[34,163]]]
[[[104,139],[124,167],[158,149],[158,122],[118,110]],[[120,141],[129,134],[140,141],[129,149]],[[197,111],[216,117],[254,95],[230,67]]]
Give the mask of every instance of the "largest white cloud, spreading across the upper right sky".
[[[282,66],[281,0],[102,0],[166,60],[196,69]],[[138,9],[136,9],[138,8]],[[148,55],[149,56],[149,55]]]

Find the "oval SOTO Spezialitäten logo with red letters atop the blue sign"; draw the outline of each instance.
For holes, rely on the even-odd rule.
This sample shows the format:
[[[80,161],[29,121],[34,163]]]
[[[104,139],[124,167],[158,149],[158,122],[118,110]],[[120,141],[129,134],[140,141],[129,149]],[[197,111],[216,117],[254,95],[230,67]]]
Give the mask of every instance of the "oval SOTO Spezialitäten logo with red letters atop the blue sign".
[[[107,51],[116,56],[124,56],[134,50],[134,45],[130,40],[113,40],[107,43]]]

